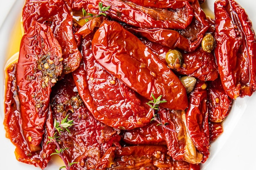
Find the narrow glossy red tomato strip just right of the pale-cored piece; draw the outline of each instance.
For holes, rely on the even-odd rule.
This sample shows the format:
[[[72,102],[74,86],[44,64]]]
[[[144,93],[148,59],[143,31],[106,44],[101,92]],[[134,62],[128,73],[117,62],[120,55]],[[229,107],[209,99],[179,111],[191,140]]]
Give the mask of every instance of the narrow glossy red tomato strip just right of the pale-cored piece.
[[[189,95],[189,108],[186,110],[186,124],[189,135],[204,161],[209,156],[209,125],[207,89],[202,89],[204,82],[198,81]]]

